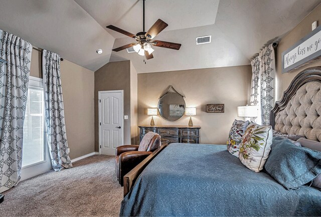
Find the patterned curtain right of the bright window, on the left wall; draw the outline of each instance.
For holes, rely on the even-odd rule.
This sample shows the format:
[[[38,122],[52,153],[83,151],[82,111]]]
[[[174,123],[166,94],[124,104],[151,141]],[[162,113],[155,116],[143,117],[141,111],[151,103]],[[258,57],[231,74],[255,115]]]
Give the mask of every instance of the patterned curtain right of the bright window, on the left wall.
[[[60,56],[43,51],[43,83],[45,91],[46,133],[53,169],[72,167],[65,126],[64,103],[60,79]]]

